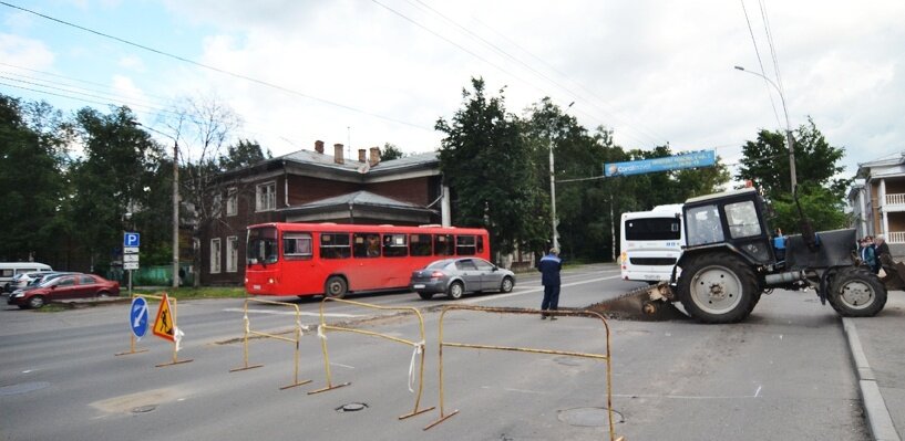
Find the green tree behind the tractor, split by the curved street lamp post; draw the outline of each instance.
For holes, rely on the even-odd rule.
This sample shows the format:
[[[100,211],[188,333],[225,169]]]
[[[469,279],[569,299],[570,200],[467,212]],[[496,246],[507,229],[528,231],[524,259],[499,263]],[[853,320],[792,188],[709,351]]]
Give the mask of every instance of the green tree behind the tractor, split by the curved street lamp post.
[[[844,228],[845,190],[851,179],[839,178],[844,170],[840,165],[845,149],[833,147],[816,128],[812,118],[793,134],[795,144],[796,193],[801,211],[817,231]],[[737,178],[752,180],[772,201],[775,219],[771,227],[783,232],[799,232],[801,213],[791,191],[789,150],[782,132],[760,130],[754,141],[742,148],[743,158]]]

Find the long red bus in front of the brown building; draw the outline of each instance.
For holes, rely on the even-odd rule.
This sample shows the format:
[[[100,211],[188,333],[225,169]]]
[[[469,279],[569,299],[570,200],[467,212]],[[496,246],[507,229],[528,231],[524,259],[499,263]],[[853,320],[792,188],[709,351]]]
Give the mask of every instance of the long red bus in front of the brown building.
[[[248,227],[245,291],[318,295],[407,288],[412,272],[435,260],[490,260],[487,231],[439,225],[261,223]]]

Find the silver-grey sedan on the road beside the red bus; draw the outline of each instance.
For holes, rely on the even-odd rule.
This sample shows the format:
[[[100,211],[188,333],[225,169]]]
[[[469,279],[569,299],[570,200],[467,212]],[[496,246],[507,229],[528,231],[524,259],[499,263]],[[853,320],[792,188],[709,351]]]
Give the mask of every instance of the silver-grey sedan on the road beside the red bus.
[[[412,272],[409,288],[421,298],[446,293],[461,298],[464,293],[498,291],[508,293],[515,286],[515,273],[479,258],[444,259]]]

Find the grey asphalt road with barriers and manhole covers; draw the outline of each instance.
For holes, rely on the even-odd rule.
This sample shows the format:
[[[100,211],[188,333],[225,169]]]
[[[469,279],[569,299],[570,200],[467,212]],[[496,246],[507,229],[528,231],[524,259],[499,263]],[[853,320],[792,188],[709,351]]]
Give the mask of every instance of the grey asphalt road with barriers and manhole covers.
[[[613,265],[564,273],[561,306],[585,307],[635,283]],[[539,306],[538,277],[521,275],[510,294],[421,301],[412,293],[350,298],[423,314],[425,364],[404,342],[421,339],[416,315],[353,304],[325,305],[327,322],[376,334],[328,329],[318,338],[319,301],[289,298],[305,330],[298,379],[295,344],[253,338],[245,366],[244,301],[178,304],[185,333],[172,345],[146,336],[130,349],[127,303],[58,313],[0,308],[2,440],[600,440],[608,439],[606,364],[562,354],[443,348],[440,407],[439,309],[449,304]],[[152,305],[156,311],[156,305]],[[291,337],[295,307],[253,303],[249,328]],[[737,325],[690,321],[609,321],[614,429],[628,440],[867,440],[841,322],[813,293],[763,296]],[[606,354],[603,322],[450,311],[446,344]],[[327,384],[321,343],[333,385]],[[410,367],[412,375],[410,375]],[[410,387],[415,392],[410,392]],[[346,409],[343,409],[346,407]],[[356,410],[358,409],[358,410]]]

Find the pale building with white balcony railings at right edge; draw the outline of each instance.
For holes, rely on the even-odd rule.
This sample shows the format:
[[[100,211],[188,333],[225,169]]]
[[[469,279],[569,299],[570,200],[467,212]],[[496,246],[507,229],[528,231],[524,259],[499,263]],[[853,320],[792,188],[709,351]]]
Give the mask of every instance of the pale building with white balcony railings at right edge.
[[[905,256],[905,154],[858,164],[849,191],[858,237],[885,234],[893,256]]]

